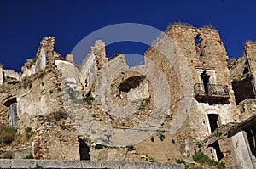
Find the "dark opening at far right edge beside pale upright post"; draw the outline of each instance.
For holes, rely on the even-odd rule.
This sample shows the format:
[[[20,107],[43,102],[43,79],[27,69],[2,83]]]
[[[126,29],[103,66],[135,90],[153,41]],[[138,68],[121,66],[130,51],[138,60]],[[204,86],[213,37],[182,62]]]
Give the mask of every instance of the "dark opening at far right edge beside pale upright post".
[[[256,156],[256,125],[254,123],[253,126],[247,127],[244,129],[247,132],[247,139],[250,145],[251,152],[254,156]]]

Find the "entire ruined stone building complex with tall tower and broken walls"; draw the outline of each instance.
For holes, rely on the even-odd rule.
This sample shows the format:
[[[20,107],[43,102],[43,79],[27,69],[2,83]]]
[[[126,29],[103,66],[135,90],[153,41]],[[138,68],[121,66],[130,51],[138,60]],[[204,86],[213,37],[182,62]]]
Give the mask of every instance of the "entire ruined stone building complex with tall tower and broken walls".
[[[54,44],[44,37],[20,73],[0,67],[1,123],[32,127],[26,143],[3,153],[175,162],[201,149],[227,168],[256,167],[256,43],[228,63],[218,30],[170,25],[134,67],[123,54],[108,58],[100,40],[81,65]]]

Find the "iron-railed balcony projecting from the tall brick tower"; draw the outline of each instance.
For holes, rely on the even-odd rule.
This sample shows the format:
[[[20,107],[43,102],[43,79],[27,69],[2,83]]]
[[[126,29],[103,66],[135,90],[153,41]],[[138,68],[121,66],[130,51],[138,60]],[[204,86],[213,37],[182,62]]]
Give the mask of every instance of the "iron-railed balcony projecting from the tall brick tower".
[[[230,98],[227,85],[196,83],[195,99],[203,102],[224,101]]]

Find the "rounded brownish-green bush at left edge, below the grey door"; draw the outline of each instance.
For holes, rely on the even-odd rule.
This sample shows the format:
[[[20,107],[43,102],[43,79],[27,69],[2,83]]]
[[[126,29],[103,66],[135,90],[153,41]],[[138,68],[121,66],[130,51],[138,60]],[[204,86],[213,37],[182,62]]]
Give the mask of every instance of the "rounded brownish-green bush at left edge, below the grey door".
[[[0,125],[0,143],[10,144],[15,139],[17,130],[15,127]]]

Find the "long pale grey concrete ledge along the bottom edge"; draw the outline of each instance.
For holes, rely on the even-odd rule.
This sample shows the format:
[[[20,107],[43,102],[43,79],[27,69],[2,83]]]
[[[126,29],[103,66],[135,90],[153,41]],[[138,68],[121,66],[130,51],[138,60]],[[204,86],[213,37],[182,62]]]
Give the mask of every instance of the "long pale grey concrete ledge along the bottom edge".
[[[2,159],[0,168],[113,168],[113,169],[184,169],[183,164],[125,162],[125,161],[52,161],[52,160],[26,160]]]

